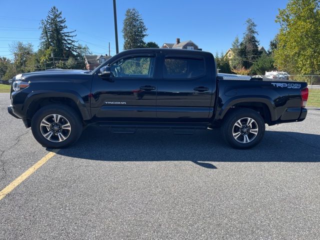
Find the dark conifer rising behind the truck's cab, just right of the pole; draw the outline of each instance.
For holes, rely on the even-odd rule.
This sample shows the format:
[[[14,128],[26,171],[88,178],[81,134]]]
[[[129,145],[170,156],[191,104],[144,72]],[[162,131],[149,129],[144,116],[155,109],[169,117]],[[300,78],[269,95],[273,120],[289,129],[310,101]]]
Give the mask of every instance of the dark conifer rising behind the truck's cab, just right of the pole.
[[[128,8],[123,20],[123,49],[140,48],[145,46],[144,37],[147,28],[141,15],[135,8]]]

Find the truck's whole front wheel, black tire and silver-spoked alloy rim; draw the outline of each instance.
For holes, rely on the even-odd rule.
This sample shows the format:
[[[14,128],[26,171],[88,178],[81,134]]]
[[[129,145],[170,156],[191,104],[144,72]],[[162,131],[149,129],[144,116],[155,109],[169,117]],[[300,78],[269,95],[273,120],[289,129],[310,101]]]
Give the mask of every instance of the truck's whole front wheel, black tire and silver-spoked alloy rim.
[[[40,108],[32,117],[34,138],[43,146],[62,148],[73,144],[81,135],[80,116],[71,107],[50,104]]]

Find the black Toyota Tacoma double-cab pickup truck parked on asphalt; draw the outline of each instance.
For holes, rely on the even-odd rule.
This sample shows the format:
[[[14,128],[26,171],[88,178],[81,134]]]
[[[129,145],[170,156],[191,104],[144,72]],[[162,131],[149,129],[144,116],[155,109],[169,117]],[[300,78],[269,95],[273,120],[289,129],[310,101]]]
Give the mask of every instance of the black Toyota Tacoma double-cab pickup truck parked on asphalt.
[[[243,78],[243,79],[242,79]],[[217,74],[198,50],[122,51],[92,72],[49,70],[14,77],[8,112],[43,146],[66,147],[90,123],[116,127],[221,128],[235,148],[250,148],[265,123],[306,117],[305,82]]]

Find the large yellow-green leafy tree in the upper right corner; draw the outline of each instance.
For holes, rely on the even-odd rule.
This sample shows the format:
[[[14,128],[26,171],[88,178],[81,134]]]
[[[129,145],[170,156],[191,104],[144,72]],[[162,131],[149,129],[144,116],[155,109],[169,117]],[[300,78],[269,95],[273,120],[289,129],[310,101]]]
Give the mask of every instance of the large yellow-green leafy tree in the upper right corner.
[[[320,74],[320,1],[289,0],[279,9],[280,24],[277,48],[274,50],[278,69],[293,74]]]

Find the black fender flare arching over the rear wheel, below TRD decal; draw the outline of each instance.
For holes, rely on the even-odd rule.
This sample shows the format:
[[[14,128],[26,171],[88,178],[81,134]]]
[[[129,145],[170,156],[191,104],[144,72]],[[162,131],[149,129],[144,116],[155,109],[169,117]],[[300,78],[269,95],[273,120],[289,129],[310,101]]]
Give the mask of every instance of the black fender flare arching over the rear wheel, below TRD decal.
[[[275,105],[274,105],[273,100],[268,96],[261,96],[261,95],[252,95],[250,97],[243,97],[243,96],[231,97],[216,112],[215,118],[219,119],[219,120],[222,119],[231,106],[233,106],[233,105],[235,105],[237,103],[241,103],[241,102],[247,102],[247,103],[259,102],[259,103],[263,103],[263,104],[265,104],[267,106],[267,108],[268,108],[268,110],[270,112],[271,120],[276,120],[277,119],[276,112],[275,112]]]

